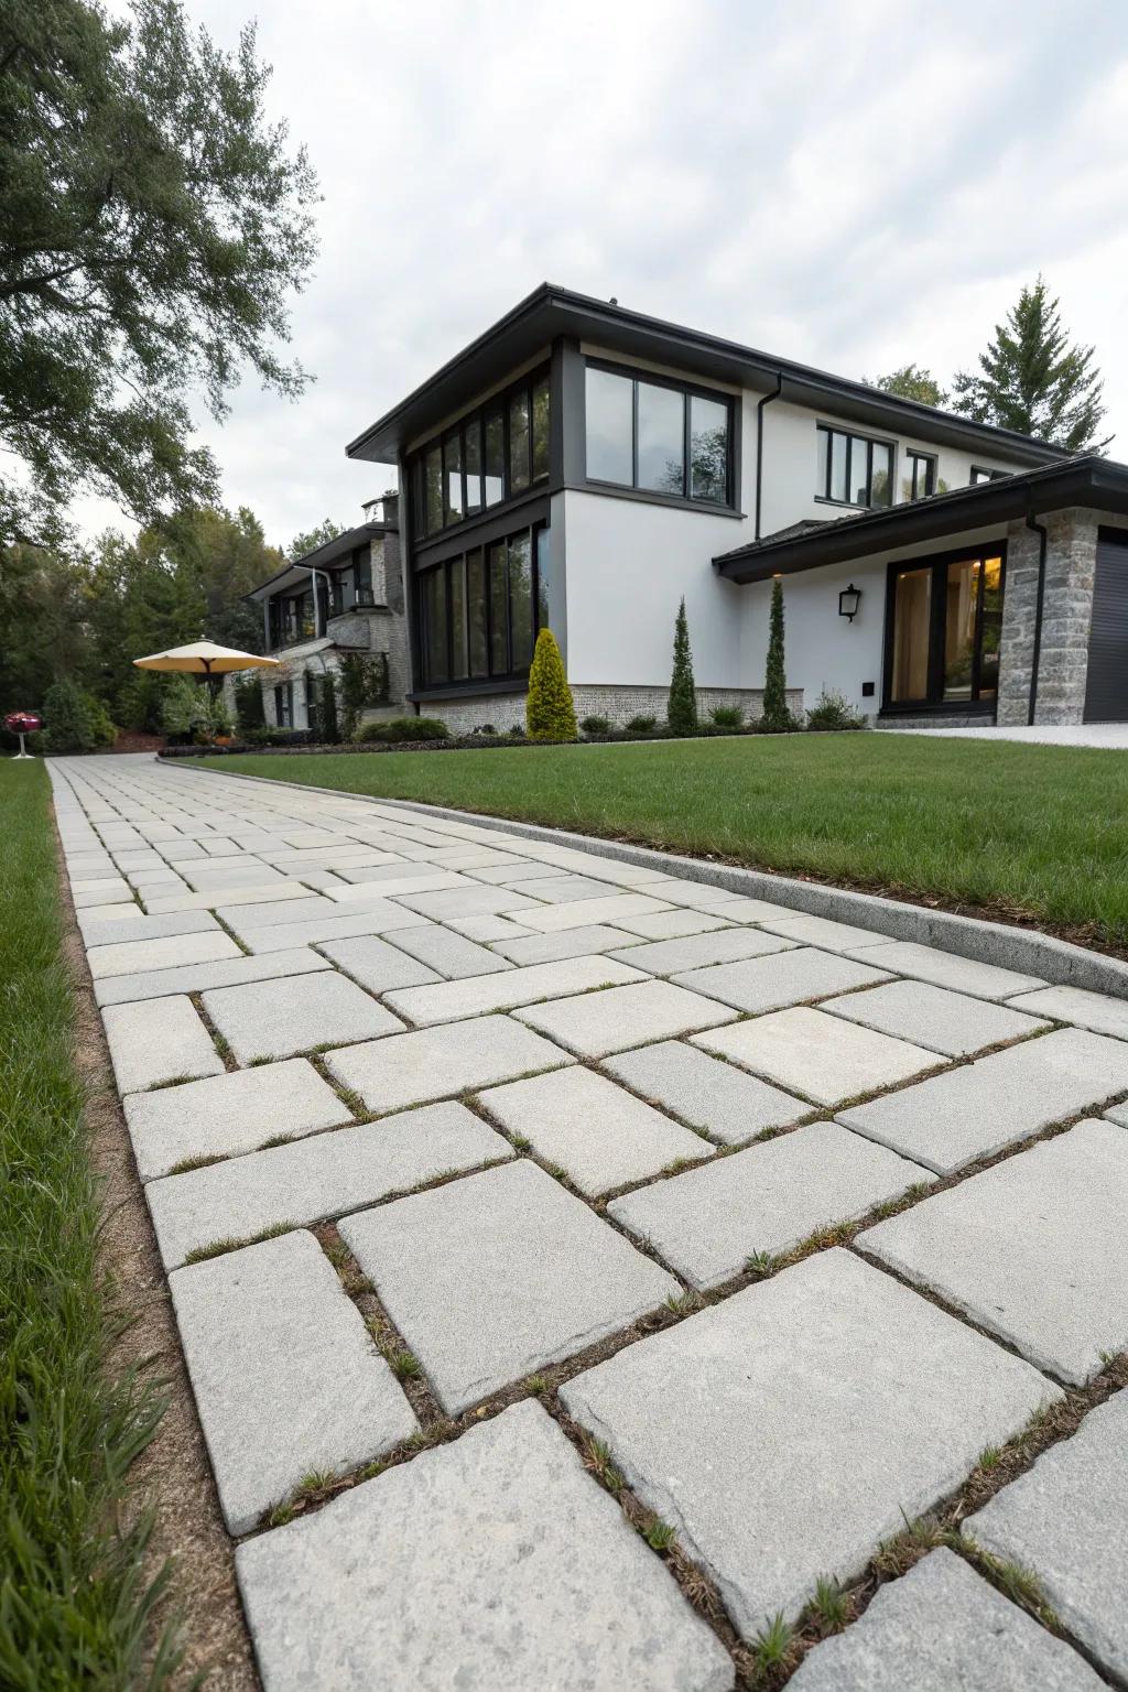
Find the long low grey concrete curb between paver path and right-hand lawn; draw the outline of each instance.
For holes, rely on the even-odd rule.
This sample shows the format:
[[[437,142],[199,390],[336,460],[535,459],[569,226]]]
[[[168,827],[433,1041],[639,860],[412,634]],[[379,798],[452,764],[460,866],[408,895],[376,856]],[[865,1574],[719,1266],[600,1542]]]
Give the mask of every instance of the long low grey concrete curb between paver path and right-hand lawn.
[[[172,766],[179,760],[167,760]],[[331,799],[365,800],[372,805],[391,805],[421,816],[448,817],[453,822],[472,822],[475,827],[497,829],[524,839],[550,841],[592,853],[595,858],[616,858],[619,863],[653,868],[656,875],[682,875],[688,882],[707,887],[724,887],[747,898],[766,898],[786,905],[803,915],[829,917],[834,922],[854,922],[893,941],[915,941],[935,946],[937,951],[991,963],[1001,970],[1037,975],[1054,986],[1079,986],[1091,993],[1109,993],[1128,998],[1128,963],[1106,958],[1103,953],[1059,941],[1038,929],[1010,927],[1005,922],[988,922],[983,917],[959,917],[949,910],[927,910],[898,898],[878,893],[859,893],[844,887],[825,887],[820,882],[800,882],[768,870],[741,870],[737,865],[710,863],[707,858],[685,858],[660,851],[654,846],[631,846],[626,841],[600,839],[597,834],[572,834],[539,822],[517,822],[509,817],[489,817],[477,810],[457,810],[453,805],[426,805],[413,799],[379,799],[374,794],[352,794],[340,787],[313,787],[309,782],[277,782],[267,775],[247,775],[245,770],[223,770],[235,782],[266,782],[269,787],[301,787],[309,794],[328,794]]]

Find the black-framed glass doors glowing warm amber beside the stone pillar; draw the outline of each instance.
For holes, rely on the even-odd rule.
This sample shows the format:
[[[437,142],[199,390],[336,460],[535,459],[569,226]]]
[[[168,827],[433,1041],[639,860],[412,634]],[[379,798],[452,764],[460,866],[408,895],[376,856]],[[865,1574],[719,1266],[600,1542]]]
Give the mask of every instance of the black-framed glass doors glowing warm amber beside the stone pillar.
[[[890,565],[886,709],[994,702],[1003,580],[1001,547]]]

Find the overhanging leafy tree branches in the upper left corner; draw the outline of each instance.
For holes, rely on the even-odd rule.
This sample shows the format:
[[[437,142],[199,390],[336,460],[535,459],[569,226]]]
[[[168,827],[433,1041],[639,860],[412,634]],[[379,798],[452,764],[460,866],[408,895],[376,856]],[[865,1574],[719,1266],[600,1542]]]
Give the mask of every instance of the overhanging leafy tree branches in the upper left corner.
[[[188,394],[250,367],[281,394],[316,183],[269,124],[254,29],[225,52],[181,0],[0,8],[0,545],[52,540],[79,489],[142,523],[206,504]]]

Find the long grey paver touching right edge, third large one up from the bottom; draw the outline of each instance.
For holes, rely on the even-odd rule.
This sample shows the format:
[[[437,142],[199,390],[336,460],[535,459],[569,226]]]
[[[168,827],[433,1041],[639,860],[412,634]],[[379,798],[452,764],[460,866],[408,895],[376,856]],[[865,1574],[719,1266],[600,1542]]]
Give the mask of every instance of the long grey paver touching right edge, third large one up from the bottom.
[[[842,1122],[949,1174],[1128,1091],[1128,1046],[1059,1029],[842,1112]]]

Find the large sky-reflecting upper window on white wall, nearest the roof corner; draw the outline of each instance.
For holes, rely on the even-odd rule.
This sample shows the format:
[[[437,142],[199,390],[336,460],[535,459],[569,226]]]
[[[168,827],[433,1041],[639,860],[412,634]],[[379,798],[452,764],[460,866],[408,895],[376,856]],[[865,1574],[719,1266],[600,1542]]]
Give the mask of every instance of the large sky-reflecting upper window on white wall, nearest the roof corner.
[[[585,413],[589,482],[731,504],[729,399],[589,364]]]

